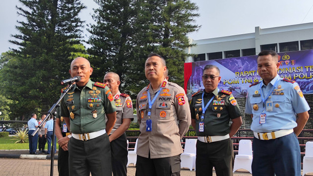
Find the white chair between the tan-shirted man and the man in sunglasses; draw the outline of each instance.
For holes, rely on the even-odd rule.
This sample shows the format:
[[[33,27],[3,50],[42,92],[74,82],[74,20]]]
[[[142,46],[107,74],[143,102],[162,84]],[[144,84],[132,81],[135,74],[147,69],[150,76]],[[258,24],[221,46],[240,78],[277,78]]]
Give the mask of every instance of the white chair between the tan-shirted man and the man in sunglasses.
[[[180,167],[189,168],[190,171],[196,166],[196,143],[197,139],[186,139],[184,153],[180,155]]]

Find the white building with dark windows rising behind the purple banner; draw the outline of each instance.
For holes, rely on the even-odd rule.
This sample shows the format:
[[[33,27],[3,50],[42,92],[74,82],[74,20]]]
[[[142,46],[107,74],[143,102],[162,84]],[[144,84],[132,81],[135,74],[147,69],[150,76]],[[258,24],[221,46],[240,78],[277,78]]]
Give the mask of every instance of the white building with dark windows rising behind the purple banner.
[[[279,53],[313,49],[313,22],[267,29],[255,27],[254,33],[189,41],[197,45],[188,52],[197,56],[187,58],[186,62],[257,55],[262,50]]]

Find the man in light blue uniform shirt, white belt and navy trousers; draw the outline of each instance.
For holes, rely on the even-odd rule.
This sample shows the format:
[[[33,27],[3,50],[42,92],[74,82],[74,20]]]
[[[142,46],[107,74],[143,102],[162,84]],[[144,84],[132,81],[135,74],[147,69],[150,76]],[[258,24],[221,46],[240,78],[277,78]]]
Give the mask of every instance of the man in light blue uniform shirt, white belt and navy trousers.
[[[310,107],[299,85],[277,74],[275,51],[260,52],[257,63],[263,81],[251,85],[246,98],[254,133],[253,176],[300,176],[297,136],[308,121]]]

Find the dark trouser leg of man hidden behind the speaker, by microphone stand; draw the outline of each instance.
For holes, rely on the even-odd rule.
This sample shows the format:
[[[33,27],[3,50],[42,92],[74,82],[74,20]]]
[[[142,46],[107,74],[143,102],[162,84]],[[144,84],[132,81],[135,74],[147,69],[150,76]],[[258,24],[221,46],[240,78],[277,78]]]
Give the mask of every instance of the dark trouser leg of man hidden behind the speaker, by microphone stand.
[[[62,132],[63,137],[66,136],[65,132]],[[59,176],[69,176],[68,174],[68,151],[64,151],[62,147],[59,146],[58,154],[58,171]]]

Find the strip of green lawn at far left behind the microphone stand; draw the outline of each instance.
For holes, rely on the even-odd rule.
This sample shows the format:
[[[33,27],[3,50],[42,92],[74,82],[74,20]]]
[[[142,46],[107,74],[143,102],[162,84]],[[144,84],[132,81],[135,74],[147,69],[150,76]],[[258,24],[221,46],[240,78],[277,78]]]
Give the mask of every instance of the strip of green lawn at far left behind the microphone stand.
[[[13,139],[13,140],[12,140]],[[15,137],[1,137],[0,138],[0,150],[22,150],[22,149],[29,149],[28,139],[26,140],[27,143],[19,144],[15,142],[17,139]],[[58,141],[58,140],[57,140]],[[45,150],[48,149],[47,143],[45,144]],[[57,149],[59,149],[58,142],[56,143]]]

